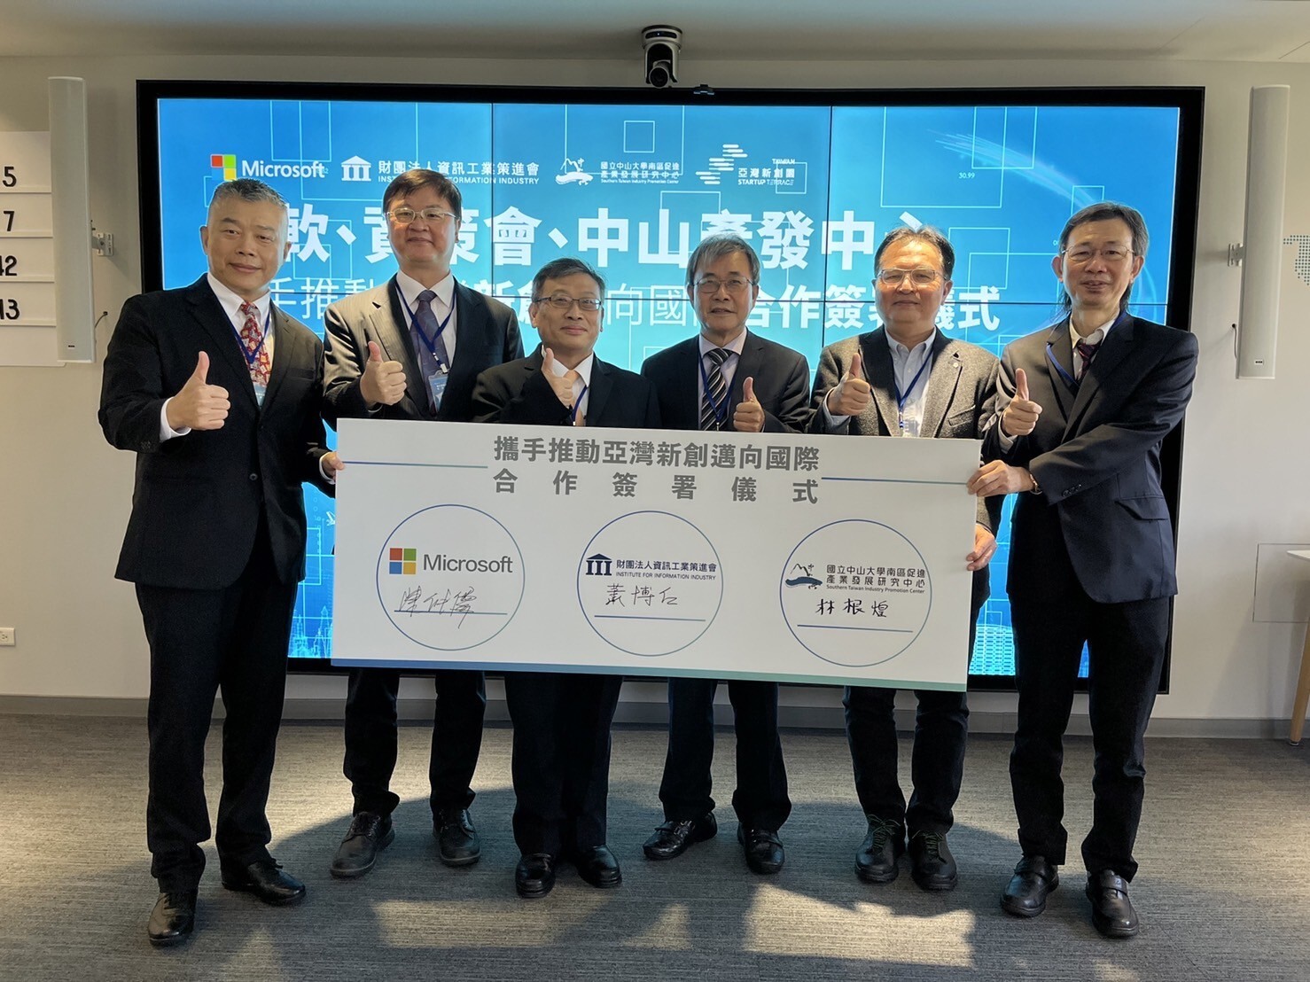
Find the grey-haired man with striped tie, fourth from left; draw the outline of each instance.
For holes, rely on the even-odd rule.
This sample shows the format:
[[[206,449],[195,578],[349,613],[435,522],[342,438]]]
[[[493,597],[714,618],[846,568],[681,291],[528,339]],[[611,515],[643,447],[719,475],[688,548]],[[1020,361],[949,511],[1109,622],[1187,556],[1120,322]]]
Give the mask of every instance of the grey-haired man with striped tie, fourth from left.
[[[686,296],[701,333],[642,365],[659,394],[665,427],[804,431],[810,368],[791,348],[747,331],[758,295],[760,257],[745,240],[710,236],[692,251]],[[650,859],[680,856],[718,831],[710,796],[717,687],[715,680],[669,680],[668,755],[659,790],[665,821],[643,846]],[[778,737],[778,683],[731,680],[728,698],[736,725],[738,841],[753,872],[776,873],[783,863],[778,829],[791,813]]]

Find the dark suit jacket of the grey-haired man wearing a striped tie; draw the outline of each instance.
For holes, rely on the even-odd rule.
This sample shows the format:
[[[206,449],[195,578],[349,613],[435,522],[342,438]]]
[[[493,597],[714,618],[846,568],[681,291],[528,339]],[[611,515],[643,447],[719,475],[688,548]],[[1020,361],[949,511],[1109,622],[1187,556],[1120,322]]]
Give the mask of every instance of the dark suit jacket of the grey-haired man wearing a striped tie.
[[[701,428],[700,363],[701,339],[696,336],[651,355],[642,365],[642,376],[650,378],[659,395],[665,429]],[[724,428],[732,427],[747,378],[755,378],[755,397],[764,407],[764,432],[804,432],[810,420],[810,365],[800,352],[747,333],[728,389]]]

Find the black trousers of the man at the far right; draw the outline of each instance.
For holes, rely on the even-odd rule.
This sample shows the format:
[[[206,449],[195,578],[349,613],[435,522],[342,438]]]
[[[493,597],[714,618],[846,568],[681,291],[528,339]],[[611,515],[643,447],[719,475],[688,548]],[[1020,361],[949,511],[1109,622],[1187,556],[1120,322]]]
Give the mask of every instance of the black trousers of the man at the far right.
[[[1010,597],[1019,683],[1010,784],[1019,846],[1024,855],[1065,862],[1062,737],[1086,642],[1095,763],[1082,858],[1089,872],[1114,869],[1132,880],[1146,776],[1142,737],[1165,664],[1170,598],[1098,604],[1072,579],[1069,571],[1058,604]]]

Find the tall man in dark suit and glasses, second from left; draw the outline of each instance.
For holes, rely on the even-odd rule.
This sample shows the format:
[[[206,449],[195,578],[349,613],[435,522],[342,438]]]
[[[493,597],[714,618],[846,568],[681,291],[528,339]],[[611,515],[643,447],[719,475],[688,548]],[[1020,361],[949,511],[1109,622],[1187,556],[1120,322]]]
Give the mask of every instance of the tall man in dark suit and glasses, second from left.
[[[466,423],[478,373],[523,357],[514,312],[451,275],[461,208],[460,190],[435,170],[406,170],[386,186],[383,211],[400,272],[328,308],[324,418],[333,427],[342,416]],[[394,668],[350,670],[343,770],[354,808],[331,862],[337,877],[367,873],[396,835],[400,678]],[[435,685],[432,834],[443,863],[468,865],[482,851],[469,805],[486,690],[481,672],[436,672]]]

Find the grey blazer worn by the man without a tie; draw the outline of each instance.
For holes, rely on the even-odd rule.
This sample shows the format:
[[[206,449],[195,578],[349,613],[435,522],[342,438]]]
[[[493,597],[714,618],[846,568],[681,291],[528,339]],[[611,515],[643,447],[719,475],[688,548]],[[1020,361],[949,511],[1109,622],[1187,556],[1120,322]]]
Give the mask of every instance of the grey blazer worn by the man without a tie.
[[[858,416],[848,419],[838,431],[827,428],[823,401],[836,388],[859,351],[865,361],[865,380],[872,389],[872,402]],[[947,338],[941,331],[933,342],[933,371],[927,376],[924,399],[921,437],[956,437],[981,440],[996,411],[996,378],[1001,363],[996,355],[977,344]],[[887,330],[846,338],[829,344],[819,356],[815,378],[814,418],[811,432],[841,432],[858,436],[891,436],[899,432],[896,411],[896,374]],[[1001,526],[1001,498],[980,498],[977,522],[996,534]],[[992,593],[988,571],[973,573],[973,604],[981,605]]]

